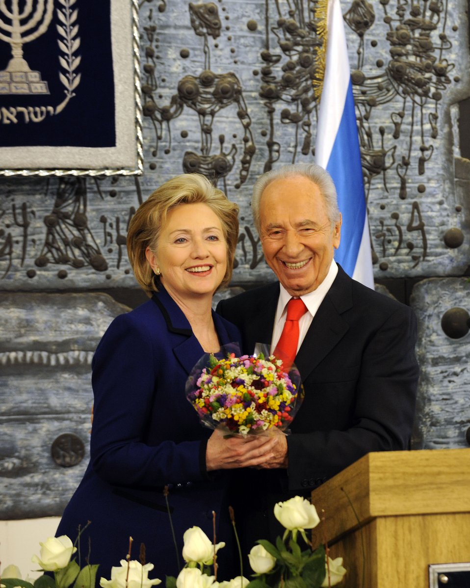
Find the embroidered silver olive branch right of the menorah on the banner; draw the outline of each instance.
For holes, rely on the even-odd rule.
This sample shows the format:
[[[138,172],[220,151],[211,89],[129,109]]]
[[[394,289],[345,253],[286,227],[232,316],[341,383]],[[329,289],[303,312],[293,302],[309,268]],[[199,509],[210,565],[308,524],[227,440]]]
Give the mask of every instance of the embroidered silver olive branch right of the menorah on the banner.
[[[59,55],[59,62],[66,72],[65,74],[60,72],[59,78],[66,89],[64,90],[65,100],[63,100],[59,106],[57,106],[55,109],[55,114],[61,112],[65,108],[70,98],[75,96],[74,90],[79,85],[81,77],[81,74],[78,74],[76,69],[80,65],[80,61],[82,59],[81,55],[74,55],[80,46],[80,37],[77,36],[78,24],[76,24],[78,8],[75,10],[72,9],[72,6],[75,4],[76,0],[58,1],[63,6],[63,8],[57,9],[57,16],[62,24],[56,26],[59,35],[61,35],[63,39],[59,38],[57,42],[64,55]]]

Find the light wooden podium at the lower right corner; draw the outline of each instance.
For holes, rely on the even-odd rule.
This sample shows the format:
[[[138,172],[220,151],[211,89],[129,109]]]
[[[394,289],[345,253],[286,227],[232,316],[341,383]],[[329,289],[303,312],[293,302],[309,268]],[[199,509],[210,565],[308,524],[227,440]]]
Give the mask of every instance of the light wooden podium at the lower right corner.
[[[343,588],[428,588],[428,564],[470,562],[470,449],[368,453],[312,502]]]

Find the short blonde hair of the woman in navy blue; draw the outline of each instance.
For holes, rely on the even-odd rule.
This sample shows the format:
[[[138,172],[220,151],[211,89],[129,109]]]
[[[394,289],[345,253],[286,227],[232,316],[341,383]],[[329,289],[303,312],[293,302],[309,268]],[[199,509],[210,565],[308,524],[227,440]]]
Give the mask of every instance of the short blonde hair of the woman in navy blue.
[[[139,285],[152,296],[159,279],[147,261],[145,251],[153,252],[168,213],[180,204],[203,203],[219,217],[227,242],[227,271],[220,286],[228,286],[239,235],[239,207],[200,173],[183,173],[172,178],[150,194],[137,209],[127,230],[127,255]]]

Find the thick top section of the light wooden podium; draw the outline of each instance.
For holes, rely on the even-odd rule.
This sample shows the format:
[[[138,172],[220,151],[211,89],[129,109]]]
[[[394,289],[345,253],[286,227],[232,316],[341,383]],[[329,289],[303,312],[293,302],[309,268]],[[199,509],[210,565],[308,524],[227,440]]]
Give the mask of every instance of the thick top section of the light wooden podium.
[[[379,516],[470,512],[470,449],[372,452],[312,492],[313,544]]]

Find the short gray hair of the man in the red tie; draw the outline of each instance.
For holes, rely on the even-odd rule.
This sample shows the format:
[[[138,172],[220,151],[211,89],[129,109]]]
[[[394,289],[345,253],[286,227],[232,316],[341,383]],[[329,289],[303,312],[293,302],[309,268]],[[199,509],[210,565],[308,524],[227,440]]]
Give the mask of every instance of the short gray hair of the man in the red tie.
[[[277,179],[286,179],[290,176],[304,176],[320,188],[321,195],[325,199],[328,219],[334,225],[340,220],[340,209],[338,208],[338,196],[330,174],[316,163],[292,163],[278,169],[263,173],[253,186],[253,198],[251,198],[251,211],[253,212],[254,226],[260,233],[260,201],[261,195],[267,186]],[[295,196],[293,196],[295,198]]]

